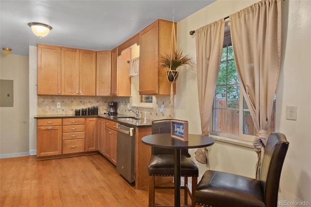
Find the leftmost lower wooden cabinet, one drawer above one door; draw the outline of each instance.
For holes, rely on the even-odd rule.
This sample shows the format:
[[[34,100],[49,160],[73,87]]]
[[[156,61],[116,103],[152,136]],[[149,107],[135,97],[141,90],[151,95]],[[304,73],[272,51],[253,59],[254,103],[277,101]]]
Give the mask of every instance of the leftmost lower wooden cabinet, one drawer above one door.
[[[37,120],[37,157],[62,154],[62,119]]]

